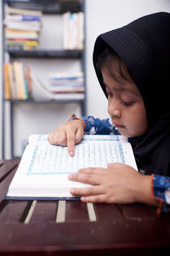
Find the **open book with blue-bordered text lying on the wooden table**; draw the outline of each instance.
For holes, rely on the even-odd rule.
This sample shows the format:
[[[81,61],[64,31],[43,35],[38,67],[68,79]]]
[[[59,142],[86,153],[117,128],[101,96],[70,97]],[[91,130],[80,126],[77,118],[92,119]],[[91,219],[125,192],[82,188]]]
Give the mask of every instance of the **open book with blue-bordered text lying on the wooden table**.
[[[73,199],[71,188],[90,185],[69,181],[69,174],[90,166],[107,168],[107,163],[114,162],[137,170],[133,149],[126,137],[85,135],[76,145],[75,156],[71,157],[67,147],[48,143],[48,135],[31,135],[7,198]]]

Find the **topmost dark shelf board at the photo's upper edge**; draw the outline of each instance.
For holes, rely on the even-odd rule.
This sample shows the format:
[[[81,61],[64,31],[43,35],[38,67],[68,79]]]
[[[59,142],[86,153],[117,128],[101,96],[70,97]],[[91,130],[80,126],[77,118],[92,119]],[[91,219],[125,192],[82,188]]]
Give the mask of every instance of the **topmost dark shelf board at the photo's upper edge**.
[[[42,11],[43,14],[63,14],[66,11],[77,13],[82,11],[82,1],[66,0],[5,0],[8,6],[18,9]]]

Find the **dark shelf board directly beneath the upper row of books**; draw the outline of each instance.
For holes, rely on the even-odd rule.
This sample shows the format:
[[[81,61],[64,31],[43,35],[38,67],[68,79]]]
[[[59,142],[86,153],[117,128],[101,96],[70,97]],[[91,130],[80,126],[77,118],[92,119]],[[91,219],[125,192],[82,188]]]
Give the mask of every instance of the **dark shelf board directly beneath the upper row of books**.
[[[65,58],[77,59],[82,57],[82,50],[65,50],[65,49],[6,49],[6,52],[12,58]]]

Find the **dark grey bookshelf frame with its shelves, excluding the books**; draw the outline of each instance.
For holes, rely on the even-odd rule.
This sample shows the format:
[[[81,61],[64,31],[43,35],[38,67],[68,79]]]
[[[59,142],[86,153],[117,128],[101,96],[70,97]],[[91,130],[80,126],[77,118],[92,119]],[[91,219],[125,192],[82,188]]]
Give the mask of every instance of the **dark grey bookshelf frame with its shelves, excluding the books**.
[[[71,13],[83,12],[85,20],[85,0],[3,0],[3,20],[4,20],[4,7],[8,4],[9,7],[15,9],[31,9],[42,12],[42,15],[63,15],[69,11]],[[3,22],[2,22],[3,24]],[[85,22],[84,22],[84,38],[85,38]],[[80,63],[81,71],[84,74],[84,98],[83,99],[42,99],[38,97],[29,98],[27,100],[20,99],[5,99],[4,88],[2,92],[2,157],[5,158],[5,148],[7,147],[7,127],[9,124],[9,144],[11,158],[20,158],[20,155],[16,155],[14,152],[14,119],[16,106],[33,106],[33,108],[39,108],[38,106],[49,106],[50,104],[55,106],[59,104],[65,104],[69,106],[70,103],[77,103],[80,106],[80,112],[82,115],[86,115],[86,73],[85,73],[85,39],[83,49],[62,49],[62,48],[48,48],[40,45],[36,49],[6,49],[4,44],[4,26],[3,26],[3,63],[8,61],[13,62],[15,60],[38,60],[41,63],[46,61],[78,61]],[[40,38],[41,39],[41,38]],[[48,64],[47,64],[48,65]],[[40,78],[41,79],[41,78]],[[4,81],[3,81],[4,82]],[[62,105],[63,106],[63,105]],[[32,108],[32,107],[31,107]],[[55,108],[55,107],[54,107]],[[71,113],[70,107],[68,112]],[[8,119],[8,120],[7,120]],[[16,142],[15,142],[16,143]]]

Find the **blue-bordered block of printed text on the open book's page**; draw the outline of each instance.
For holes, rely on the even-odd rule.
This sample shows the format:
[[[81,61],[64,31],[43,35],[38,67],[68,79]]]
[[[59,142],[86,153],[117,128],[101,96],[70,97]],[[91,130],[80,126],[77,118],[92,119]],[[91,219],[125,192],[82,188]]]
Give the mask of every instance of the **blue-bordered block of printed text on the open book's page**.
[[[68,154],[68,148],[50,145],[46,137],[38,137],[32,154],[27,175],[32,174],[71,174],[87,167],[107,168],[107,163],[126,164],[119,136],[85,136],[75,147],[75,156]],[[115,142],[115,143],[113,143]],[[127,150],[127,149],[126,149]]]

